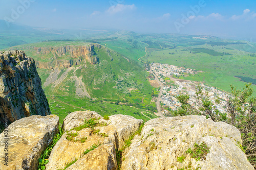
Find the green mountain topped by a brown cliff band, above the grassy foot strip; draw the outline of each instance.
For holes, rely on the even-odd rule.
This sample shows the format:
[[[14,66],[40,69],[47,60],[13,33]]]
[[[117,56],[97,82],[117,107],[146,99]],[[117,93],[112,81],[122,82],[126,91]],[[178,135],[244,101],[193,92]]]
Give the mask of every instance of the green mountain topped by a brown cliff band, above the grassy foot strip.
[[[49,95],[121,99],[129,89],[148,88],[146,74],[137,62],[97,43],[51,41],[12,49],[33,56]]]

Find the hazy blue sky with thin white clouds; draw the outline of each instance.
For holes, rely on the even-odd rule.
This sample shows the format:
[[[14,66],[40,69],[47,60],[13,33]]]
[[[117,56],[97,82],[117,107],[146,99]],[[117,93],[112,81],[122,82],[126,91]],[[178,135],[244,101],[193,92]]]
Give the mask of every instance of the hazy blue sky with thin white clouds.
[[[0,19],[52,29],[213,35],[256,41],[255,0],[0,0]]]

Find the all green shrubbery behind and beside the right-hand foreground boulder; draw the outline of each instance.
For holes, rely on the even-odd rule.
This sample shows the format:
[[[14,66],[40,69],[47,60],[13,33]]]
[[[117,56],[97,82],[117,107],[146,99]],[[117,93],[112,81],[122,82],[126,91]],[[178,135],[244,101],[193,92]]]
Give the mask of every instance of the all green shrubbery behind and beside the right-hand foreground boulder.
[[[237,127],[242,137],[241,149],[256,169],[256,98],[251,96],[253,92],[251,83],[245,84],[243,90],[237,89],[233,85],[230,85],[230,87],[231,95],[226,104],[227,113],[221,113],[214,107],[214,103],[208,97],[208,92],[206,91],[204,94],[203,88],[198,86],[196,99],[199,105],[199,111],[187,103],[189,100],[188,95],[179,95],[176,98],[182,105],[177,111],[173,111],[172,115],[205,115],[215,122],[226,122]],[[215,102],[220,103],[218,96]]]

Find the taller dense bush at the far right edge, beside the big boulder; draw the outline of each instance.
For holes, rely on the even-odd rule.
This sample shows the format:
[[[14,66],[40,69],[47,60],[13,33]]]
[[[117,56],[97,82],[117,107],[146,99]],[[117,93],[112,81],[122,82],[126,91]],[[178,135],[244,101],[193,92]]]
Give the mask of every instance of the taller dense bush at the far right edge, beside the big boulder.
[[[245,154],[256,168],[256,98],[252,95],[251,83],[245,84],[243,90],[230,85],[232,97],[227,101],[230,118],[227,123],[237,127],[242,136]]]

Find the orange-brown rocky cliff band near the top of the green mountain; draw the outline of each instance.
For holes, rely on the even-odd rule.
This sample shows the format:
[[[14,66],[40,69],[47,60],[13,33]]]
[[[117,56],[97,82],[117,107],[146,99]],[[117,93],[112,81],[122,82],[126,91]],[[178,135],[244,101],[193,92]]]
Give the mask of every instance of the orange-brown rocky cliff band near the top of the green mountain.
[[[79,64],[82,60],[86,60],[91,64],[99,63],[99,58],[95,55],[94,47],[101,48],[100,44],[82,45],[82,46],[59,46],[59,47],[33,47],[37,54],[47,55],[53,54],[53,62],[36,61],[36,67],[53,69],[53,68],[69,68],[72,65]],[[71,60],[59,60],[65,55],[69,55]]]

